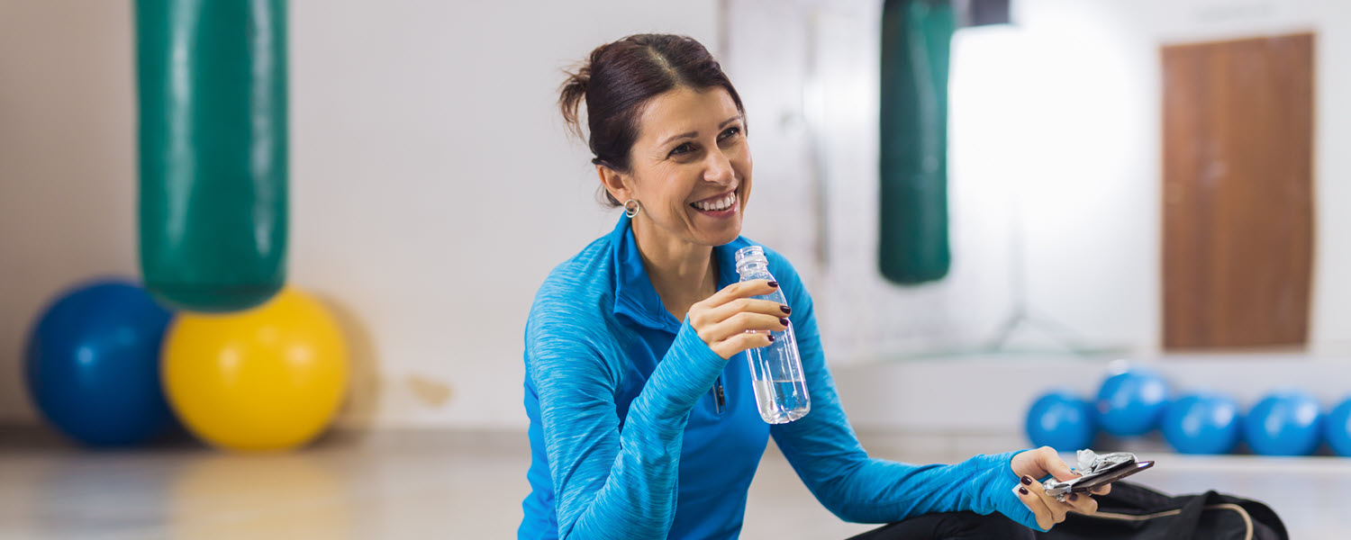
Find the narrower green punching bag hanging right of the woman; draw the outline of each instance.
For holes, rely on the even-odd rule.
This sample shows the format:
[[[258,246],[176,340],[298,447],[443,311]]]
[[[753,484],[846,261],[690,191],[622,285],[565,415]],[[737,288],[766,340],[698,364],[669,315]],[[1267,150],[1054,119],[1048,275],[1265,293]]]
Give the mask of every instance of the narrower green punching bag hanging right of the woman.
[[[947,63],[957,20],[948,0],[882,7],[882,275],[913,285],[947,275]]]

